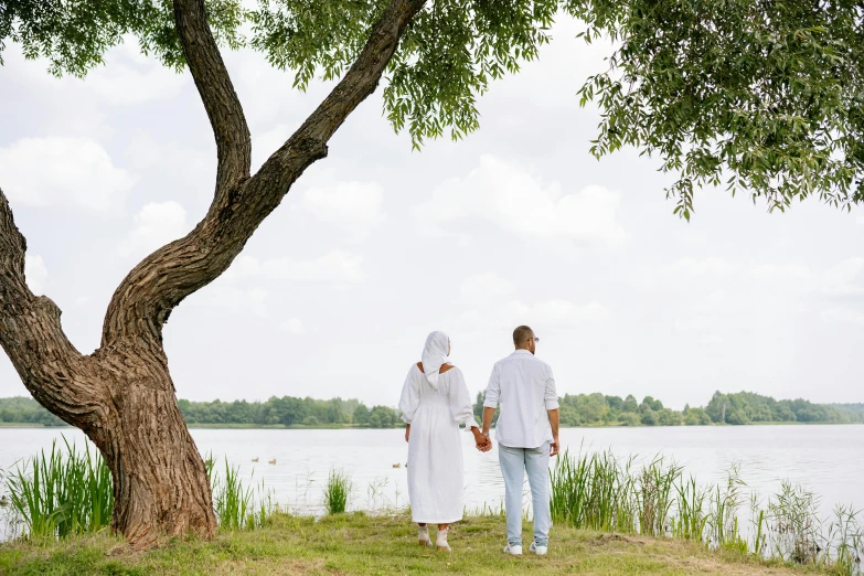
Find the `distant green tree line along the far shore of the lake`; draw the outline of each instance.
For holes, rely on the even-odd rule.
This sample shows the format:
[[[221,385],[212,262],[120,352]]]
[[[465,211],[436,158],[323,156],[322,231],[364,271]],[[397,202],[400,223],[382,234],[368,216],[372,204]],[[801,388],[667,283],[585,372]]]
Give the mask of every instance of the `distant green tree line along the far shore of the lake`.
[[[179,401],[190,425],[247,426],[399,426],[398,413],[387,406],[369,408],[358,399],[329,401],[292,396],[266,402]],[[813,404],[806,399],[777,401],[750,392],[715,393],[704,408],[666,408],[659,399],[632,395],[565,394],[559,398],[562,426],[705,426],[710,424],[757,423],[864,423],[864,404]],[[483,416],[483,394],[477,395],[474,415]],[[498,415],[495,415],[495,419]],[[0,423],[62,426],[63,420],[33,398],[0,398]]]

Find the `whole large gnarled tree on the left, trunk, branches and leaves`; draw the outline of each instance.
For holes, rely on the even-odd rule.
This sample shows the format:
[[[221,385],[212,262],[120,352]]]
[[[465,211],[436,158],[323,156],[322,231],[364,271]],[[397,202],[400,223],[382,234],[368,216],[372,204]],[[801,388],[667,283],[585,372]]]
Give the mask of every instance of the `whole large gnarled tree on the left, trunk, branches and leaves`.
[[[204,462],[178,407],[162,327],[183,299],[212,282],[328,141],[377,87],[386,115],[413,145],[478,126],[489,82],[516,72],[548,41],[558,0],[13,0],[0,12],[0,50],[19,43],[54,74],[84,75],[104,51],[136,36],[142,52],[186,66],[210,118],[217,166],[213,202],[195,228],[147,256],[120,282],[102,344],[82,354],[61,311],[31,292],[26,243],[0,191],[0,344],[33,397],[77,426],[114,478],[113,530],[137,547],[160,535],[211,537],[216,527]],[[252,139],[220,45],[248,44],[296,73],[305,88],[320,71],[341,81],[297,131],[250,173]],[[384,415],[378,414],[381,420]],[[391,410],[392,412],[392,410]],[[395,415],[394,415],[395,416]],[[316,416],[303,416],[312,422]],[[222,420],[221,420],[222,422]]]

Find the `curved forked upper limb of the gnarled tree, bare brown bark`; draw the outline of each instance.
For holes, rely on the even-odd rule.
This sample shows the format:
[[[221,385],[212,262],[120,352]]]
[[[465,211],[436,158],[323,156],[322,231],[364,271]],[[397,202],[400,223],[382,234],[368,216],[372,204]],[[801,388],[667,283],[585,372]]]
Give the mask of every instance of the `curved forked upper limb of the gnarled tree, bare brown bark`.
[[[425,2],[393,0],[342,81],[260,170],[250,179],[228,183],[225,188],[220,188],[217,179],[213,203],[195,230],[154,252],[129,273],[108,307],[103,346],[129,340],[161,342],[162,326],[173,308],[225,271],[258,225],[279,205],[291,184],[309,166],[327,156],[327,142],[360,103],[375,90],[406,26]],[[231,156],[234,153],[231,147],[239,146],[238,141],[245,142],[248,130],[245,120],[228,127],[227,122],[237,122],[243,115],[227,71],[217,56],[215,42],[209,31],[204,34],[201,30],[206,26],[205,21],[199,20],[203,18],[203,1],[175,0],[174,11],[178,29],[184,31],[180,38],[188,58],[189,54],[200,55],[199,51],[207,54],[206,58],[190,58],[190,70],[211,117],[216,142],[226,147],[226,153]],[[180,20],[185,28],[180,25]],[[193,29],[196,32],[190,35],[189,31]],[[210,39],[211,43],[201,44],[202,38]],[[192,60],[198,60],[195,67]],[[215,68],[202,70],[200,66],[205,63]],[[248,171],[248,160],[244,161]],[[218,178],[227,178],[222,175],[227,168],[220,170]]]

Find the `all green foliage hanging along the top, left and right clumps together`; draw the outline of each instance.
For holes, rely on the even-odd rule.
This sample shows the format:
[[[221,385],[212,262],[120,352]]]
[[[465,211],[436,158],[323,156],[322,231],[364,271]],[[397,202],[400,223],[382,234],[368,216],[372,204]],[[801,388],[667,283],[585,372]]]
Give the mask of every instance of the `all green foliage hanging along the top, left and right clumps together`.
[[[306,88],[356,60],[386,0],[206,0],[220,45],[249,46]],[[166,65],[185,65],[169,0],[3,0],[7,41],[82,76],[130,36]],[[385,115],[415,147],[478,128],[490,81],[534,60],[556,17],[610,39],[609,70],[588,78],[582,104],[601,111],[591,151],[622,146],[659,156],[676,175],[675,212],[693,213],[705,185],[746,191],[785,210],[815,195],[851,207],[864,199],[864,8],[853,0],[435,0],[391,60]]]

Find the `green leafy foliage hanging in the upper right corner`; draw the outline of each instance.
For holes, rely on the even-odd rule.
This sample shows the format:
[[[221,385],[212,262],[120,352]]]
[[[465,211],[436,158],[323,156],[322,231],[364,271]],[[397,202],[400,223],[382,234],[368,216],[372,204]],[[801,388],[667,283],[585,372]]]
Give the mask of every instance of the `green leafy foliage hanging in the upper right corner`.
[[[864,44],[852,0],[565,0],[585,38],[614,40],[588,78],[600,157],[622,146],[678,175],[668,194],[690,218],[694,191],[726,183],[769,209],[815,195],[864,200]]]

